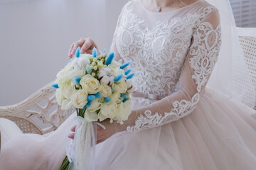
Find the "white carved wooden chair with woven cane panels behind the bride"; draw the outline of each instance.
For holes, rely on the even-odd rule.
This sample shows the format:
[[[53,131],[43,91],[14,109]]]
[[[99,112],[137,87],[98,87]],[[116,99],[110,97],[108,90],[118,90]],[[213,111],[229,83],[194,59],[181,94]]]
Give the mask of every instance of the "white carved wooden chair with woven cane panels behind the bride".
[[[256,28],[238,28],[238,33],[256,88]],[[21,103],[0,107],[0,118],[14,121],[24,133],[42,135],[56,130],[74,111],[74,108],[61,111],[55,99],[55,89],[48,84]]]

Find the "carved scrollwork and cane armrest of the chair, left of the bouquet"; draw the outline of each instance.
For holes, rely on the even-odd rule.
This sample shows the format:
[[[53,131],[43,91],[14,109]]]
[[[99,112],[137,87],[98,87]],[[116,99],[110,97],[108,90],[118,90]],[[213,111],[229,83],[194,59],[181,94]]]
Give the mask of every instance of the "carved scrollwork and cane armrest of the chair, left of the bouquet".
[[[0,118],[12,120],[23,133],[46,134],[56,130],[75,111],[62,111],[50,84],[21,103],[0,107]]]

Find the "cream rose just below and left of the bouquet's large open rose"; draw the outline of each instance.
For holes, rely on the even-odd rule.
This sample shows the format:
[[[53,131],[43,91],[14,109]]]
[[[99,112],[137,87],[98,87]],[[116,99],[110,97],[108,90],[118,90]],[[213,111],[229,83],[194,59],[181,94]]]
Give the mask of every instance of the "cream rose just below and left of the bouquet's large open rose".
[[[87,103],[87,91],[78,90],[72,97],[72,103],[75,108],[83,108]]]

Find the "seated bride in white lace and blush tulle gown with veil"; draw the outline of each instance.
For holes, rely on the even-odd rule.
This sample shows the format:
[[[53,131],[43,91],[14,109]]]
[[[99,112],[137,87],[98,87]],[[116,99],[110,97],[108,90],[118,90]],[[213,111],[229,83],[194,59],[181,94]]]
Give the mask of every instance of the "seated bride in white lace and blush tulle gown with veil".
[[[255,96],[243,98],[245,88],[235,93],[225,77],[235,73],[223,60],[233,56],[227,26],[232,21],[223,14],[230,10],[227,1],[219,3],[216,8],[204,0],[132,0],[124,6],[112,51],[116,60],[132,60],[136,72],[132,115],[124,125],[105,120],[106,130],[97,127],[95,169],[255,169],[256,120],[243,104],[254,103],[249,99]],[[90,52],[97,45],[81,38],[71,45],[70,57],[77,47]],[[212,86],[206,86],[209,78]],[[0,119],[0,169],[59,169],[65,129],[74,117],[43,136],[4,127],[8,120]],[[17,135],[3,139],[6,128]]]

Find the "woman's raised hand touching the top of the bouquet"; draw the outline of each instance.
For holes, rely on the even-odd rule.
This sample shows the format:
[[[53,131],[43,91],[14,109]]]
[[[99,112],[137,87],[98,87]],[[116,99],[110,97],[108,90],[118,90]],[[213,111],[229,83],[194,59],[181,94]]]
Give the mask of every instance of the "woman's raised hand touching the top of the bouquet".
[[[80,38],[77,42],[73,42],[72,45],[70,45],[70,50],[68,52],[68,57],[72,57],[75,55],[75,50],[80,47],[80,52],[81,53],[87,53],[87,54],[92,54],[92,49],[95,47],[98,50],[97,45],[95,44],[94,40],[92,38]]]

